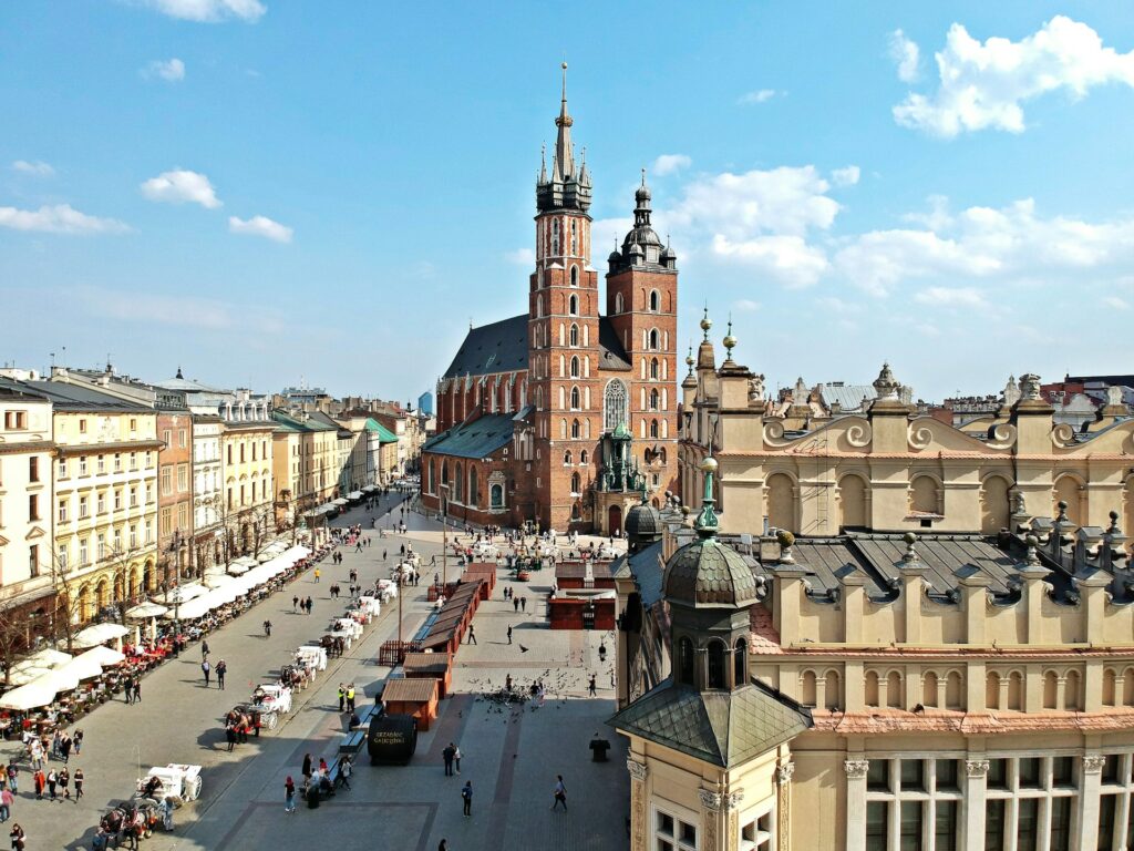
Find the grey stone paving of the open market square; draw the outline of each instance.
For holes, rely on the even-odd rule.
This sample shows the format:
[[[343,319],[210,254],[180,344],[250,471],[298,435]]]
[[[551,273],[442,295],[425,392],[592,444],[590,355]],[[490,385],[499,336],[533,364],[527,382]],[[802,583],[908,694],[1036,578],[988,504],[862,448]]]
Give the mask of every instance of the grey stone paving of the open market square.
[[[387,505],[392,503],[387,502]],[[378,513],[375,513],[378,515]],[[390,515],[399,519],[398,507]],[[370,524],[364,509],[354,509],[335,525]],[[222,730],[223,714],[245,700],[252,686],[274,674],[290,651],[323,633],[325,621],[344,604],[329,599],[335,582],[346,585],[354,567],[370,584],[389,574],[397,550],[411,542],[429,565],[440,558],[440,526],[434,520],[407,513],[406,538],[392,532],[363,551],[344,548],[344,563],[321,564],[322,580],[312,572],[256,606],[240,618],[210,634],[210,658],[229,665],[227,691],[205,689],[200,672],[198,644],[179,659],[166,663],[143,680],[142,703],[108,703],[83,718],[86,733],[83,753],[73,755],[70,769],[82,766],[86,795],[79,803],[35,801],[28,794],[31,774],[20,776],[20,794],[14,819],[28,833],[28,851],[90,848],[99,816],[113,801],[127,798],[139,772],[151,765],[194,762],[204,766],[200,801],[179,809],[172,834],[155,833],[143,844],[164,849],[307,849],[333,837],[336,843],[376,844],[390,849],[435,849],[447,839],[454,851],[464,849],[625,849],[628,800],[625,749],[603,722],[613,713],[611,658],[599,662],[598,648],[609,633],[552,632],[547,629],[543,593],[552,576],[535,574],[532,583],[515,583],[517,596],[528,599],[527,612],[516,613],[502,599],[510,584],[507,572],[491,600],[477,610],[476,644],[462,646],[454,672],[454,697],[441,702],[440,717],[418,738],[417,752],[408,766],[369,764],[359,755],[350,791],[310,810],[301,800],[293,816],[284,812],[284,781],[301,778],[305,753],[328,761],[337,752],[344,718],[337,711],[337,685],[354,682],[367,697],[389,673],[375,664],[382,641],[397,635],[397,605],[387,606],[361,642],[341,659],[331,659],[315,684],[298,692],[289,716],[259,740],[237,745],[228,753]],[[381,521],[380,521],[381,524]],[[454,534],[449,532],[450,538]],[[387,550],[388,559],[382,561]],[[423,580],[432,578],[423,568]],[[440,570],[438,567],[437,570]],[[450,578],[456,575],[450,559]],[[428,616],[425,584],[405,589],[403,632],[413,635]],[[291,596],[315,600],[310,617],[291,612]],[[538,600],[539,598],[539,600]],[[271,639],[263,638],[261,623],[270,618]],[[507,642],[514,627],[513,644]],[[526,648],[523,650],[522,648]],[[596,676],[596,698],[587,696],[587,681]],[[542,707],[534,702],[521,709],[481,694],[500,688],[506,676],[525,686],[540,679],[547,690]],[[359,705],[364,701],[359,700]],[[608,762],[591,762],[587,744],[598,732],[615,745]],[[456,742],[463,755],[462,774],[446,777],[441,750]],[[9,742],[6,758],[18,748]],[[556,775],[562,774],[568,792],[568,812],[551,811]],[[473,784],[473,815],[462,816],[460,786]]]

